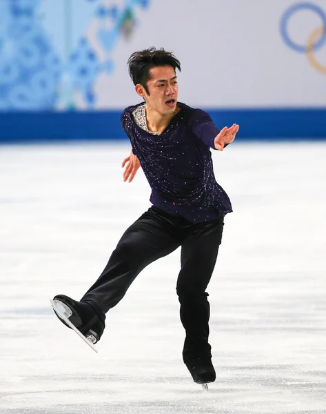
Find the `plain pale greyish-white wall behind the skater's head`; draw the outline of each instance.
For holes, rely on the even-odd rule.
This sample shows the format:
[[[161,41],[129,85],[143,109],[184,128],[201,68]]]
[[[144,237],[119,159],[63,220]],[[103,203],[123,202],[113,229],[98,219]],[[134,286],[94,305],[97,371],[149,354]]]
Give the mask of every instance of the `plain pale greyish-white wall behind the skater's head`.
[[[182,63],[180,97],[193,106],[325,106],[326,69],[318,72],[303,53],[289,48],[280,21],[293,0],[153,0],[139,12],[130,43],[113,52],[114,75],[96,81],[100,108],[137,101],[125,62],[147,46],[173,50]],[[314,0],[326,14],[326,2]],[[289,35],[305,44],[321,26],[318,14],[303,10],[288,22]],[[326,42],[316,52],[326,68]]]

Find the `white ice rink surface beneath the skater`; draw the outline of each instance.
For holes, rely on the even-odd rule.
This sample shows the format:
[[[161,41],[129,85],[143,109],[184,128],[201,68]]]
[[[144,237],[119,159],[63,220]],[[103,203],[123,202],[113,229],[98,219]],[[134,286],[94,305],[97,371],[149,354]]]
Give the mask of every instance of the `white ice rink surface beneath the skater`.
[[[107,314],[96,354],[54,316],[150,206],[128,144],[0,147],[0,413],[326,413],[326,143],[214,152],[232,200],[209,285],[207,393],[183,365],[179,250]]]

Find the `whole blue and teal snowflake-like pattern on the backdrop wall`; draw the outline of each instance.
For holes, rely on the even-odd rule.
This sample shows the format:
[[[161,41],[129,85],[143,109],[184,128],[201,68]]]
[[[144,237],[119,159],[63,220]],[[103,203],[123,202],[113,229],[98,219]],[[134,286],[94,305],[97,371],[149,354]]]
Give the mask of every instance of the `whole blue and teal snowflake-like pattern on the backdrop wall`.
[[[73,110],[74,93],[79,92],[85,107],[96,103],[94,81],[103,71],[114,72],[112,51],[122,37],[132,38],[136,28],[136,8],[146,9],[150,0],[125,0],[123,7],[101,0],[63,0],[61,21],[70,26],[72,14],[82,3],[93,6],[92,19],[99,25],[96,37],[105,51],[99,59],[86,36],[62,56],[43,23],[40,10],[52,0],[4,0],[0,2],[0,110]],[[59,4],[59,0],[55,0]],[[51,19],[47,17],[47,19]],[[58,30],[60,30],[58,27]]]

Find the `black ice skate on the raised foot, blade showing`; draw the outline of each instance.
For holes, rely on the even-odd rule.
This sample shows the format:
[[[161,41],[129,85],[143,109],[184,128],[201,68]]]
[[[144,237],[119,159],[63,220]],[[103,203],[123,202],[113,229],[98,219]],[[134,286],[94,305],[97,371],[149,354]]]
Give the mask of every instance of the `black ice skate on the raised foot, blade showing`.
[[[92,306],[65,295],[55,296],[53,300],[50,300],[50,304],[60,321],[76,332],[95,352],[98,352],[94,344],[101,338],[104,322]]]

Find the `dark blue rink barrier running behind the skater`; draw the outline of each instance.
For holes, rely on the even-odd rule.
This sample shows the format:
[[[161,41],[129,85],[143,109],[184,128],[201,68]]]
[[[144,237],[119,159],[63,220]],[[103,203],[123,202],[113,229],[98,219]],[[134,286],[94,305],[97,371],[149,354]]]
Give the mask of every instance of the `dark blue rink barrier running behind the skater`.
[[[326,139],[325,108],[207,109],[218,128],[240,125],[237,139]],[[0,142],[126,139],[121,110],[0,112]]]

